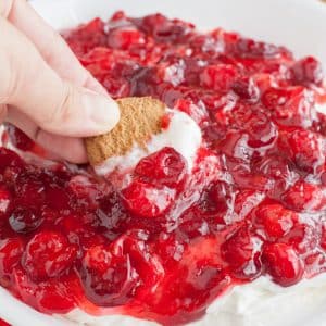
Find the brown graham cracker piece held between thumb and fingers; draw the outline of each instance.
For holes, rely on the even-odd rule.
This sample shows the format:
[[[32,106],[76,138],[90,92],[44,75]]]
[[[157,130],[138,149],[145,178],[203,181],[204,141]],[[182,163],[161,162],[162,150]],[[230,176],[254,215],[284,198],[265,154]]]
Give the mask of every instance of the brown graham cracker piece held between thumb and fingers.
[[[85,141],[92,166],[111,156],[125,155],[135,145],[145,148],[151,136],[162,130],[165,104],[161,101],[143,97],[124,98],[116,102],[121,110],[118,124],[110,133]]]

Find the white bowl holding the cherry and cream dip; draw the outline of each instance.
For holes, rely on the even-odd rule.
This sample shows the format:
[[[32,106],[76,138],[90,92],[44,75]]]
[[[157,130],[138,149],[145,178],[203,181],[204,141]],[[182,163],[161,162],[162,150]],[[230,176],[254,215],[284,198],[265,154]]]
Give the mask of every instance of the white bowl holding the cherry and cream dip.
[[[318,0],[34,0],[41,16],[53,27],[75,26],[95,16],[108,18],[116,10],[129,15],[162,12],[188,20],[199,29],[217,26],[243,35],[287,46],[296,55],[313,54],[326,67],[326,4]],[[67,321],[37,313],[9,296],[0,287],[0,317],[14,326],[75,325]],[[314,325],[325,325],[324,308]],[[310,325],[302,321],[303,325]],[[109,326],[109,325],[108,325]]]

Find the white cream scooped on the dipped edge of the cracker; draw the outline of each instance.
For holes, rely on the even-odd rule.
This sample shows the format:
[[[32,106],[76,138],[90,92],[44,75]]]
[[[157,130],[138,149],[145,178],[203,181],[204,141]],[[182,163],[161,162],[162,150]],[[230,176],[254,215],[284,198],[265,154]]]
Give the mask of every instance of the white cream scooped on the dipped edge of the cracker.
[[[191,172],[196,154],[201,146],[201,130],[197,123],[186,113],[166,109],[171,115],[168,127],[162,133],[154,135],[147,143],[146,149],[134,146],[123,156],[109,158],[96,166],[98,175],[108,175],[113,171],[124,173],[137,165],[145,156],[161,150],[164,147],[172,147],[179,152],[187,161]]]

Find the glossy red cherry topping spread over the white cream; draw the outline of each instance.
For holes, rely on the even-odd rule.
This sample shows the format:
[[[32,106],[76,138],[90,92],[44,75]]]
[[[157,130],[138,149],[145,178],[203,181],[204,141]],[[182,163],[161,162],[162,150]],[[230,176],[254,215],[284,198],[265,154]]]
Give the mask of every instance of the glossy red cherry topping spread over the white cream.
[[[64,37],[112,97],[158,98],[189,114],[203,142],[191,173],[163,148],[121,190],[88,166],[30,163],[25,153],[41,149],[5,126],[2,287],[48,314],[177,325],[236,285],[267,276],[288,287],[326,271],[318,61],[161,14],[117,12]]]

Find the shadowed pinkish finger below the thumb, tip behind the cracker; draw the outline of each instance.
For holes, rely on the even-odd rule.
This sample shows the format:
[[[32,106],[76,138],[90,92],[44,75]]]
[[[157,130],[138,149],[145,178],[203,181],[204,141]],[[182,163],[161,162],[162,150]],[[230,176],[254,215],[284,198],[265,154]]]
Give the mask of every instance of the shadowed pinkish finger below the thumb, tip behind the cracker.
[[[87,162],[86,149],[80,138],[63,137],[45,131],[28,116],[13,106],[9,109],[5,121],[23,130],[47,151],[54,153],[58,159],[60,158],[72,163]]]

